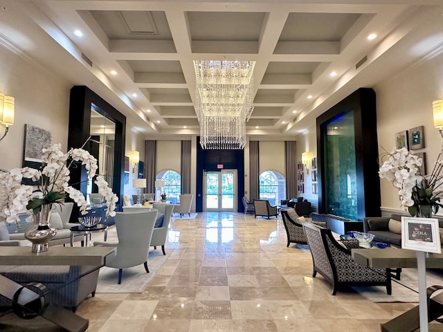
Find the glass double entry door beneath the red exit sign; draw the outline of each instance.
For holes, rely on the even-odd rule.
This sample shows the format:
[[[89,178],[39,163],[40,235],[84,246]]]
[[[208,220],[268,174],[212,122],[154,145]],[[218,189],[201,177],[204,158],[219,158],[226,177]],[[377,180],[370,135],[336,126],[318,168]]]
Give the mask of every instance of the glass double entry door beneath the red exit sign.
[[[205,172],[205,211],[237,211],[237,170]]]

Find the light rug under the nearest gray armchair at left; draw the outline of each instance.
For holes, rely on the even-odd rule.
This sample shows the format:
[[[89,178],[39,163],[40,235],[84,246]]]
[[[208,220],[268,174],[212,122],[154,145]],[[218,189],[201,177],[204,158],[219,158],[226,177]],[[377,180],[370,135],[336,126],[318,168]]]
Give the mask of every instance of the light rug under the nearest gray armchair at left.
[[[163,255],[161,246],[157,247],[157,250],[152,248],[147,259],[150,273],[146,273],[143,264],[124,268],[120,285],[118,284],[118,268],[107,266],[100,268],[96,293],[143,293],[172,251],[174,250],[166,249],[166,255]]]

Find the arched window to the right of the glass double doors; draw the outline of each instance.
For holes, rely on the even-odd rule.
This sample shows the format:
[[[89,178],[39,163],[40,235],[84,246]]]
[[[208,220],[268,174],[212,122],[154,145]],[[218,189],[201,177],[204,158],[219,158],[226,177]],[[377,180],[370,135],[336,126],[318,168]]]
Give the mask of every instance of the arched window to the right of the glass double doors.
[[[271,205],[280,205],[286,199],[286,183],[279,172],[265,171],[260,174],[260,199],[267,199]]]

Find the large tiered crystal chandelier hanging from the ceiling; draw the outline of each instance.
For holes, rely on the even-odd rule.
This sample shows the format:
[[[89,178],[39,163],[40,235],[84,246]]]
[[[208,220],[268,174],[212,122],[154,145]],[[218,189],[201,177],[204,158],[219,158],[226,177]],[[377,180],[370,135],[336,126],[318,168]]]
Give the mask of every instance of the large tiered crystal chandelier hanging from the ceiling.
[[[204,149],[243,149],[253,111],[254,61],[195,60],[195,111]]]

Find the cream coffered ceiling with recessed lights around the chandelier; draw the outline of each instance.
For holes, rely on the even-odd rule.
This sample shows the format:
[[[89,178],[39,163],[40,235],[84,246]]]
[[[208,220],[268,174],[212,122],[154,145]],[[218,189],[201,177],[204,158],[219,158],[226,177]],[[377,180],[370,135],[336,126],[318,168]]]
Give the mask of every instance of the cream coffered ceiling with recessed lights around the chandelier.
[[[52,59],[40,62],[90,86],[146,136],[199,133],[195,59],[255,61],[247,132],[281,137],[443,45],[441,0],[0,2],[51,39]],[[71,68],[58,63],[66,55]]]

